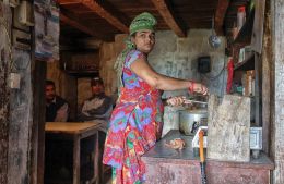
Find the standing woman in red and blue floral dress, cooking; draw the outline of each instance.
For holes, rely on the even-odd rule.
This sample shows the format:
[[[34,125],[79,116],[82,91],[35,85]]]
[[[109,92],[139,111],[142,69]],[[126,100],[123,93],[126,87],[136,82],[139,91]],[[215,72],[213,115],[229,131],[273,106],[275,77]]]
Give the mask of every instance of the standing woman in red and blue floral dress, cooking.
[[[120,95],[110,118],[103,162],[113,167],[114,184],[139,184],[144,181],[145,167],[141,156],[154,146],[163,127],[161,90],[189,89],[208,94],[202,84],[177,79],[156,73],[147,62],[155,44],[155,17],[138,15],[130,25],[130,41],[118,57],[116,68]],[[171,98],[168,105],[182,103]]]

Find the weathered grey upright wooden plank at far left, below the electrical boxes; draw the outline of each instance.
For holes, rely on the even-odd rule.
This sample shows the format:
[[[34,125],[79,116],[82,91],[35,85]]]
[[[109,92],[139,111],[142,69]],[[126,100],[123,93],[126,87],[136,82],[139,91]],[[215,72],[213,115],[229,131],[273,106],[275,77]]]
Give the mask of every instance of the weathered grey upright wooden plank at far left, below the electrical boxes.
[[[8,184],[29,183],[33,91],[31,53],[13,51],[13,72],[21,75],[20,89],[11,89]]]

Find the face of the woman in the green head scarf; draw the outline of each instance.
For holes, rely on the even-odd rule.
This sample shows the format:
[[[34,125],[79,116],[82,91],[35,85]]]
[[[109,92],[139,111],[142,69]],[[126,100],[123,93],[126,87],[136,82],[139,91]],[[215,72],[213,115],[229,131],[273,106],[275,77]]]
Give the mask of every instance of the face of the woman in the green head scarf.
[[[150,53],[155,45],[155,33],[152,30],[140,30],[132,36],[132,42],[137,49]]]

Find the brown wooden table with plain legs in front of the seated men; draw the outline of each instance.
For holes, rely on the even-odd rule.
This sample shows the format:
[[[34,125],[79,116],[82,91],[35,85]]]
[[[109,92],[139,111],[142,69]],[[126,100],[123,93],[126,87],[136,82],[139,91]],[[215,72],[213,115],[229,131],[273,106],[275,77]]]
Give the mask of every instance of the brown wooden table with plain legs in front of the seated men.
[[[98,127],[100,123],[95,122],[47,122],[45,125],[46,134],[51,134],[52,138],[72,139],[73,146],[73,184],[80,184],[80,150],[81,139],[94,136],[96,147],[94,149],[94,176],[91,183],[99,183],[98,174]]]

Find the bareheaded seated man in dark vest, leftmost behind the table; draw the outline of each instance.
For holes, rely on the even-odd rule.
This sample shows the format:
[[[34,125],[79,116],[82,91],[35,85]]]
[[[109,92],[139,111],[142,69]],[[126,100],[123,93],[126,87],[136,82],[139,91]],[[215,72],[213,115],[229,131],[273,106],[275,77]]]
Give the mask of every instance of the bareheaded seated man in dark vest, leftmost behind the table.
[[[56,95],[56,86],[52,81],[46,81],[46,121],[66,122],[69,107],[67,101]]]

